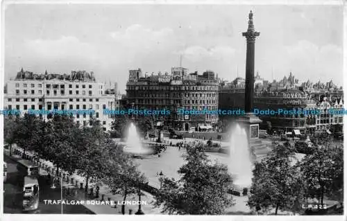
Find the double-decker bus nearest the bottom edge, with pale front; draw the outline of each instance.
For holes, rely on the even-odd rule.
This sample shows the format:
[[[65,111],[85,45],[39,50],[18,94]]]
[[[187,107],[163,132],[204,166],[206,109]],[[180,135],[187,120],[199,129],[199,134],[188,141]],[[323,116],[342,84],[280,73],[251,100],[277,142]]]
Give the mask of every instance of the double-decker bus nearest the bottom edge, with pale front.
[[[24,177],[23,211],[33,211],[39,206],[39,182],[36,177]]]

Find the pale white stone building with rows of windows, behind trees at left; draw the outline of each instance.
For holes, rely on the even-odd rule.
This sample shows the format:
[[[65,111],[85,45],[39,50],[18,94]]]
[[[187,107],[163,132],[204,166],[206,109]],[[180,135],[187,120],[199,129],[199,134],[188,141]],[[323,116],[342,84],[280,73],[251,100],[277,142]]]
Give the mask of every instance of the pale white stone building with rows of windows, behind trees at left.
[[[96,82],[94,73],[71,71],[71,75],[34,74],[19,71],[15,80],[5,85],[4,109],[17,109],[22,114],[33,110],[94,110],[94,114],[74,114],[78,125],[90,125],[90,117],[100,121],[103,130],[111,128],[112,116],[103,109],[115,109],[115,89]],[[31,112],[33,113],[33,112]],[[47,119],[50,114],[37,114]]]

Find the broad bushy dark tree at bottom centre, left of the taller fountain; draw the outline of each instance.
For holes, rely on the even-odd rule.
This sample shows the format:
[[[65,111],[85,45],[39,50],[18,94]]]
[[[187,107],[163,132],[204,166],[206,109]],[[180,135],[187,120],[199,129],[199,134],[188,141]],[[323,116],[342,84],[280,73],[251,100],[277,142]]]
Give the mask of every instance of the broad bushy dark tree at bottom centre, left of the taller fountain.
[[[212,163],[203,145],[187,147],[187,163],[178,173],[181,178],[160,178],[162,188],[155,196],[155,205],[163,206],[162,212],[170,214],[208,214],[225,213],[232,206],[232,177],[228,168],[219,163]]]

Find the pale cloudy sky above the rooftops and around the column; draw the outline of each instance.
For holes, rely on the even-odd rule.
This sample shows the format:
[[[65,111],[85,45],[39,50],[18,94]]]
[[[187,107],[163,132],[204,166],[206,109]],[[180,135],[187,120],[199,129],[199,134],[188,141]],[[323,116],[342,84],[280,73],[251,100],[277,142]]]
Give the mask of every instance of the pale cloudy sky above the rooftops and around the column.
[[[124,91],[129,69],[170,72],[180,56],[189,72],[244,78],[250,10],[260,76],[342,85],[343,6],[10,4],[5,80],[86,70]]]

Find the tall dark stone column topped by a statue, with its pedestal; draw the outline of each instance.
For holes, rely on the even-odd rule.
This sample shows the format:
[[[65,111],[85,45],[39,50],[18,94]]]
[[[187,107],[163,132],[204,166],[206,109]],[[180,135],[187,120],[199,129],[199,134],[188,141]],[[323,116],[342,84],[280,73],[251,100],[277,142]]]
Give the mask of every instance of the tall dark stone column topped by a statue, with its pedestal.
[[[245,87],[245,112],[246,115],[240,116],[237,121],[245,128],[249,145],[254,150],[255,146],[260,145],[259,140],[259,123],[262,122],[260,118],[253,114],[253,100],[254,100],[254,49],[255,38],[260,33],[254,30],[253,25],[253,12],[248,15],[248,29],[242,36],[246,37],[247,53],[246,53],[246,87]]]

